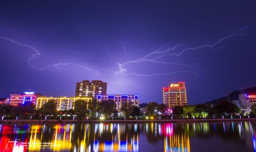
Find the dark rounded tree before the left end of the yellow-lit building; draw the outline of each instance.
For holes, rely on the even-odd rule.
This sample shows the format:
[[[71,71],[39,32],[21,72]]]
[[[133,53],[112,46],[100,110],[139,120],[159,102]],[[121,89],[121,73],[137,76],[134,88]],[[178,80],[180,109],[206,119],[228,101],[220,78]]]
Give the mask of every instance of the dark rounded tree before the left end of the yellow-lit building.
[[[56,107],[57,105],[54,100],[49,100],[39,109],[39,115],[41,116],[41,118],[45,118],[45,116],[50,116],[55,119],[57,117]]]

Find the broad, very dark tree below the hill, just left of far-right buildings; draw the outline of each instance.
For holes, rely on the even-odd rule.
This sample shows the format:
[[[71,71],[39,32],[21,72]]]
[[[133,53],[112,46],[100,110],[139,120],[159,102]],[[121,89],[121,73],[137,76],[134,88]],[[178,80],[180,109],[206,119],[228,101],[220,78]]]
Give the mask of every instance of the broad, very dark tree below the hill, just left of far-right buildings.
[[[229,115],[240,113],[241,109],[230,101],[220,100],[214,106],[213,111],[215,115],[221,116],[225,115],[226,113]]]

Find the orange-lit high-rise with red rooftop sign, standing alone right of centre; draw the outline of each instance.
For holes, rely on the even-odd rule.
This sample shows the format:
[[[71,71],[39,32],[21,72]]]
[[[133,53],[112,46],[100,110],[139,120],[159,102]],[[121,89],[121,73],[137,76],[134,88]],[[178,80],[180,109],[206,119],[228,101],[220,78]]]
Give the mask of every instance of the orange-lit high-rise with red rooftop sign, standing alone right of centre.
[[[163,87],[163,103],[167,108],[187,105],[185,82],[170,84],[167,88]]]

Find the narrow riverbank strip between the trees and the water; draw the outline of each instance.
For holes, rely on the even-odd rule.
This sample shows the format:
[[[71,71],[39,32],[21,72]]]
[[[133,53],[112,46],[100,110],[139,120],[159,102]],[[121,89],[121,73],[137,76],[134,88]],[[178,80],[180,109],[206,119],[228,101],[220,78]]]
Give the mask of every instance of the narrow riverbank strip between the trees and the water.
[[[256,118],[243,119],[173,119],[173,120],[1,120],[3,123],[188,123],[188,122],[234,122],[234,121],[256,121]]]

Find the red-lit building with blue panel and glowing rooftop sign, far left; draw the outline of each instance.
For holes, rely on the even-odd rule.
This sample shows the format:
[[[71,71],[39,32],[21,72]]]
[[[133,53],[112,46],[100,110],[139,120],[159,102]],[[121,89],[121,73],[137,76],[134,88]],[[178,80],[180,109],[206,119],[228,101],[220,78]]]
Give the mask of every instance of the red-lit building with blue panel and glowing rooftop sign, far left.
[[[34,92],[24,92],[22,95],[11,94],[10,95],[10,105],[21,105],[25,102],[31,102],[35,104],[36,98],[43,96],[42,94],[34,93]]]

